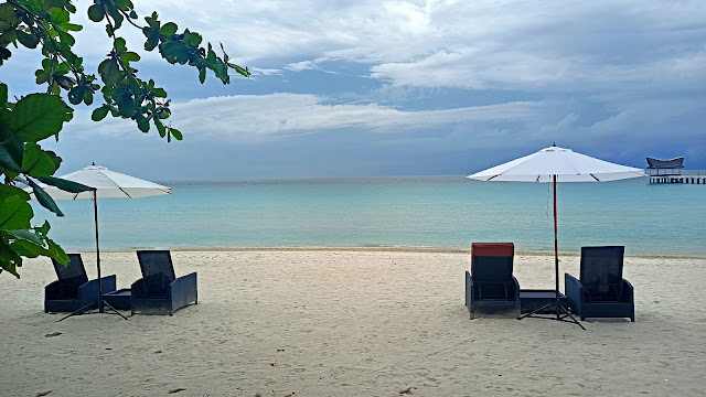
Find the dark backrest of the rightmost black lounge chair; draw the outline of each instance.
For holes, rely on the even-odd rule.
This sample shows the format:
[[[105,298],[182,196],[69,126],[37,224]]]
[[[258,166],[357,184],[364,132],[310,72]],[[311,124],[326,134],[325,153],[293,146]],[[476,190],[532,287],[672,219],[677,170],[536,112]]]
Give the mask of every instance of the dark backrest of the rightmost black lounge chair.
[[[624,246],[581,247],[581,285],[590,294],[610,293],[622,283]]]

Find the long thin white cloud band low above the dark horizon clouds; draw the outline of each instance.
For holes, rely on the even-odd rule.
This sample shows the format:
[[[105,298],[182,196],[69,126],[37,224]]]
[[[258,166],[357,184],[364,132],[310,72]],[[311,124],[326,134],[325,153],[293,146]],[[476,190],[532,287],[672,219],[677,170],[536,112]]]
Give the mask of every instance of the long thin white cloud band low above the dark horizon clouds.
[[[530,101],[439,110],[402,110],[377,104],[328,105],[314,95],[239,95],[192,99],[172,105],[170,119],[189,139],[263,141],[285,137],[354,130],[361,133],[408,133],[448,125],[517,121],[535,117],[539,104]],[[96,133],[86,111],[76,117],[73,130]],[[100,135],[132,135],[135,126],[122,119],[107,119]]]

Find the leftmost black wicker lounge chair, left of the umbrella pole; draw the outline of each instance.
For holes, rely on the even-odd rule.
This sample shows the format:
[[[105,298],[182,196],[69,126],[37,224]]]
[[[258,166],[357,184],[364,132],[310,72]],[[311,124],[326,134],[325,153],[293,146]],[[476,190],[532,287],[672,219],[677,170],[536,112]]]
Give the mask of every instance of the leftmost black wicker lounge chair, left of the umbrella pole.
[[[67,313],[98,309],[98,279],[88,281],[81,254],[68,254],[64,266],[52,259],[58,280],[44,288],[44,312]],[[115,291],[115,275],[100,279],[103,292]]]

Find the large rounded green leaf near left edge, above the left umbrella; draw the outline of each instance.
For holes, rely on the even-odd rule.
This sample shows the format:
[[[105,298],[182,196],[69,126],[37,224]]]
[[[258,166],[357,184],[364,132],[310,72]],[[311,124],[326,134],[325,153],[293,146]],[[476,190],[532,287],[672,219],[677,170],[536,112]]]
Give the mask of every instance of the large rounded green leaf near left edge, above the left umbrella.
[[[58,133],[67,112],[68,109],[60,97],[30,94],[14,105],[10,128],[20,139],[36,142]]]

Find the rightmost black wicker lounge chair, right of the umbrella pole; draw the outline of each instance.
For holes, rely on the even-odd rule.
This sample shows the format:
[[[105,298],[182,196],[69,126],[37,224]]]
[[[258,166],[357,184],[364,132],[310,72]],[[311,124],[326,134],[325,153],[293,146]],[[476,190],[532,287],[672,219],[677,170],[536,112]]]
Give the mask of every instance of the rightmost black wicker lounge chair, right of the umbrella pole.
[[[581,247],[580,280],[565,275],[571,310],[586,318],[630,318],[635,321],[632,285],[622,278],[625,247]]]

